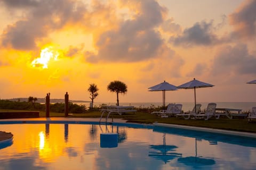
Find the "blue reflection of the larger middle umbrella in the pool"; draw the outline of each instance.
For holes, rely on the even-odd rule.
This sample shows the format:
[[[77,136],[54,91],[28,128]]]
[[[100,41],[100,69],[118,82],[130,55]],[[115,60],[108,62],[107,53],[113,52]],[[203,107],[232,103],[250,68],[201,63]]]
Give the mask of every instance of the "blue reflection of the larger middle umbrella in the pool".
[[[201,165],[214,165],[215,164],[214,159],[197,157],[197,144],[196,144],[195,156],[178,158],[178,161],[185,165],[188,165],[188,166],[201,166]]]

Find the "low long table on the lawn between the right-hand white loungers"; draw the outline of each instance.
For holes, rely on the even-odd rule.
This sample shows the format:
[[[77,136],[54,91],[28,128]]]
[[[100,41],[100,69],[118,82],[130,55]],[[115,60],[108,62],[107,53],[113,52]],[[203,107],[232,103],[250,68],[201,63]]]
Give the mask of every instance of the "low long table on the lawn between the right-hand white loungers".
[[[242,114],[242,109],[236,108],[216,108],[215,111],[221,111],[221,113],[216,113],[218,116],[227,116],[228,118],[232,119],[234,116],[239,117],[247,117],[247,114]]]

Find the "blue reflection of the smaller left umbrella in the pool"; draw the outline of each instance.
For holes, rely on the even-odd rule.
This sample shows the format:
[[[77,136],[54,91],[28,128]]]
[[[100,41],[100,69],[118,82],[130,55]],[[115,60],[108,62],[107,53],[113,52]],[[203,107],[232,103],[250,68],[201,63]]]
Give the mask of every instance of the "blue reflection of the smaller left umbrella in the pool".
[[[158,160],[163,160],[163,162],[166,164],[167,162],[169,162],[169,160],[182,156],[182,154],[178,154],[175,152],[169,152],[169,151],[175,151],[176,148],[178,148],[178,147],[174,146],[174,145],[166,145],[165,133],[164,133],[163,134],[163,145],[150,145],[150,149],[155,149],[158,151],[150,151],[148,156],[153,157]]]

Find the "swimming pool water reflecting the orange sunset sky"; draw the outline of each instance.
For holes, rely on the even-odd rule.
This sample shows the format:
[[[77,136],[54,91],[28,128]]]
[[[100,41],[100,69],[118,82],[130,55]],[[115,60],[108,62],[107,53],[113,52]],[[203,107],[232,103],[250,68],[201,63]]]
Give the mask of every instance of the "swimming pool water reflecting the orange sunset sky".
[[[0,124],[0,169],[255,169],[256,142],[135,124]],[[101,134],[117,133],[116,141]],[[116,145],[113,143],[116,142]]]

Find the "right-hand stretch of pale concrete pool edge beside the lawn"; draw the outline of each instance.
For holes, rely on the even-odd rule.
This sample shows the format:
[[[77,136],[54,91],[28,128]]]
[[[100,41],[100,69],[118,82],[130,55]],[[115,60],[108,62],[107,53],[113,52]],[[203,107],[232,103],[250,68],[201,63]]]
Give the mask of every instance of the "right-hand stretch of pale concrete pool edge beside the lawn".
[[[187,130],[213,132],[213,133],[221,133],[221,134],[229,134],[229,135],[237,135],[237,136],[242,136],[242,137],[256,138],[256,133],[250,133],[250,132],[228,131],[228,130],[221,130],[221,129],[201,128],[201,127],[195,127],[195,126],[184,126],[184,125],[165,124],[165,123],[153,123],[153,125],[166,127],[166,128],[180,128],[180,129],[187,129]]]

